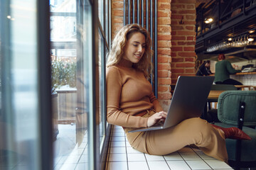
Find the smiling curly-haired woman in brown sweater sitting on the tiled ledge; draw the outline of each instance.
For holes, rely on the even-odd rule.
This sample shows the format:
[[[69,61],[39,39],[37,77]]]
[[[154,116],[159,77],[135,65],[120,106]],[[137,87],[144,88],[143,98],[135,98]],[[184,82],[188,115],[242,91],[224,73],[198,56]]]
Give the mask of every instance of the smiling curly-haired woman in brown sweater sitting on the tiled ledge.
[[[147,80],[150,49],[149,33],[137,24],[124,26],[115,36],[107,60],[107,121],[122,126],[130,145],[140,152],[164,155],[196,145],[205,154],[226,162],[225,137],[250,140],[238,128],[220,130],[206,120],[191,118],[164,130],[128,133],[166,118]]]

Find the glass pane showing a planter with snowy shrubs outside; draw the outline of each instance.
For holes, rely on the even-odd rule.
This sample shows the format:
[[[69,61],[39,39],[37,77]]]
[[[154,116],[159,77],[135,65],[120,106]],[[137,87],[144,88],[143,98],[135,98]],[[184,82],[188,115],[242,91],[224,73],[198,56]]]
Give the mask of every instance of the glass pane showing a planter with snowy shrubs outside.
[[[54,169],[89,169],[91,6],[50,1]]]

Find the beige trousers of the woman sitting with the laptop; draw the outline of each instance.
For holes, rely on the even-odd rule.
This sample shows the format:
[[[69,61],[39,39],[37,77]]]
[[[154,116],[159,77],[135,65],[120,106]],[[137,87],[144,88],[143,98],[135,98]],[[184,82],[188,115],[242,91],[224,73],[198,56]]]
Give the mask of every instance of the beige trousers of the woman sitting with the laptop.
[[[149,117],[154,111],[146,113]],[[190,118],[164,130],[131,132],[124,128],[127,140],[134,149],[146,154],[164,155],[176,152],[187,145],[196,145],[210,157],[228,162],[225,136],[222,130],[213,128],[206,120]]]

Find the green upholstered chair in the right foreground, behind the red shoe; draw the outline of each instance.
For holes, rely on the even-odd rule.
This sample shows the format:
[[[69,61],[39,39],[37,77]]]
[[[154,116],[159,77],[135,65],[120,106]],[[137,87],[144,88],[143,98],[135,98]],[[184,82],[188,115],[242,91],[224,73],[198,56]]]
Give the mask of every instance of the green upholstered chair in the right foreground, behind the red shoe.
[[[224,128],[238,127],[252,140],[226,139],[228,162],[234,169],[256,167],[256,91],[224,91],[218,98],[218,120]]]

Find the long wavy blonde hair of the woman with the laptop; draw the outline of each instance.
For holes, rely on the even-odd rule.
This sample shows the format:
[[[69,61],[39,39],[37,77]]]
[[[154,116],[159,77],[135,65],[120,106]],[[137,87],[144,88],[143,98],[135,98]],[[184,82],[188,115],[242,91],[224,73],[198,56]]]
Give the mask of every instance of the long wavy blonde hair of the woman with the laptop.
[[[151,72],[149,69],[152,69],[151,56],[153,53],[151,50],[151,38],[148,31],[138,24],[128,24],[117,32],[112,41],[112,48],[107,56],[107,67],[119,64],[124,55],[124,47],[134,33],[142,33],[145,36],[146,47],[141,60],[138,63],[133,63],[132,67],[144,72],[145,77],[149,79],[149,72]]]

